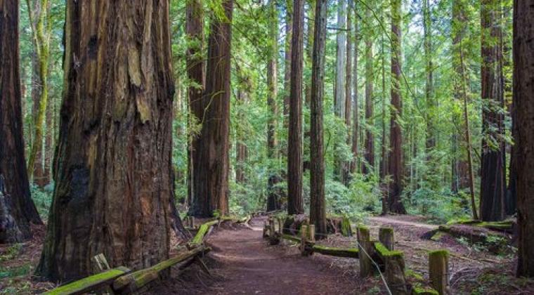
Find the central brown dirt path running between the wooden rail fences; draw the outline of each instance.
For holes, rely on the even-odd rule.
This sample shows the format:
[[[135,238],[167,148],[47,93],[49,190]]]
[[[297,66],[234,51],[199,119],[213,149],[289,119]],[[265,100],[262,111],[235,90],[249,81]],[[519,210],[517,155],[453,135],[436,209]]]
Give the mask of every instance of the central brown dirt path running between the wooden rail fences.
[[[206,294],[354,294],[354,280],[330,268],[325,256],[302,257],[287,244],[268,246],[261,237],[263,219],[251,225],[209,237],[221,280]]]

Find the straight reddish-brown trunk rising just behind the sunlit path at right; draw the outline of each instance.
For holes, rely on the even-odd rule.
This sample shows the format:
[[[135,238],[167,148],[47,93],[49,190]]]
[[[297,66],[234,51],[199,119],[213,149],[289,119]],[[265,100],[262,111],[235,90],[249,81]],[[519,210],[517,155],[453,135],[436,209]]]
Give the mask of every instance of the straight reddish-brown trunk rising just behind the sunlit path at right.
[[[389,211],[406,214],[401,201],[403,192],[403,135],[401,119],[403,116],[403,98],[401,94],[401,24],[402,2],[391,0],[391,119],[389,124],[389,161],[388,174],[391,175],[389,183]]]

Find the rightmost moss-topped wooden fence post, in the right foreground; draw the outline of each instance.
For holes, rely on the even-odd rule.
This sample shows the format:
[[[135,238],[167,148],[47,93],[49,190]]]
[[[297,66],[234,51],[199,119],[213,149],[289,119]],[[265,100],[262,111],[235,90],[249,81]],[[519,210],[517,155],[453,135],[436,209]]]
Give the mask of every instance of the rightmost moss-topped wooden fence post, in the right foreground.
[[[447,250],[429,253],[430,284],[440,295],[448,294],[449,252]]]

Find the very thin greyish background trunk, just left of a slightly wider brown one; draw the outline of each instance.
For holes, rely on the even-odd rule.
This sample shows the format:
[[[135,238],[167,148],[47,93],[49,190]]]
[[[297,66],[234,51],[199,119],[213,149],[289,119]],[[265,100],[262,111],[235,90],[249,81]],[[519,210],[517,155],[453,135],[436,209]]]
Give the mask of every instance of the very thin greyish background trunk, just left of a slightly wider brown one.
[[[353,3],[353,7],[356,11],[357,1]],[[358,123],[360,122],[360,106],[358,105],[358,45],[360,44],[360,31],[358,27],[358,18],[354,18],[354,66],[353,66],[353,124],[352,124],[352,162],[351,173],[358,172],[358,139],[360,137],[360,131]]]

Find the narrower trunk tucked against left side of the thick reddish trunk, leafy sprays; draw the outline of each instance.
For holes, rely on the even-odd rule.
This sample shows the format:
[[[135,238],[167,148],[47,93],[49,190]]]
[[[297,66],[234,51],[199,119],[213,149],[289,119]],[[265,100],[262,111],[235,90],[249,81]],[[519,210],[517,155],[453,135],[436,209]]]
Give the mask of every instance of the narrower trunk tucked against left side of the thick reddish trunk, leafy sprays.
[[[185,34],[190,39],[190,47],[186,52],[186,66],[190,86],[188,87],[189,113],[188,128],[189,133],[197,130],[197,124],[204,121],[204,107],[202,105],[202,94],[206,85],[206,74],[204,73],[204,58],[202,56],[204,44],[204,15],[202,11],[202,0],[188,0],[187,18],[185,21]],[[200,147],[200,140],[197,133],[190,134],[188,140],[188,204],[193,204],[195,199],[194,176],[196,152]]]

